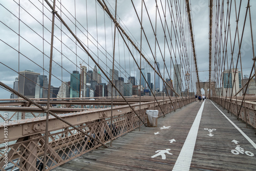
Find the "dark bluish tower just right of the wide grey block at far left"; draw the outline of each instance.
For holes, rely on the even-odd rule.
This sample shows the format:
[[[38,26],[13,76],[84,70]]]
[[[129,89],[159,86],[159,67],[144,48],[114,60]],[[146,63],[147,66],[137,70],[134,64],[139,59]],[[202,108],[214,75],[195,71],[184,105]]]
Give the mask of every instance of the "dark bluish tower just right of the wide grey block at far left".
[[[48,88],[47,75],[38,75],[35,86],[35,98],[46,98],[48,94],[46,88]]]

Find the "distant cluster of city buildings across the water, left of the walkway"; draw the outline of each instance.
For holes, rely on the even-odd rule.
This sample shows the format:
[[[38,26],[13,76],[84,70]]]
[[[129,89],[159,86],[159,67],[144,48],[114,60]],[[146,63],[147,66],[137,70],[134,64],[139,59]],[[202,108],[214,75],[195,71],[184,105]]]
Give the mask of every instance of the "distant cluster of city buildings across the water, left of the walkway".
[[[159,63],[156,65],[159,68]],[[112,96],[151,96],[151,90],[155,90],[156,96],[173,95],[172,87],[163,87],[160,92],[160,77],[156,74],[156,85],[151,81],[151,73],[145,73],[142,68],[141,83],[136,81],[135,76],[129,76],[127,81],[119,77],[118,70],[110,69],[108,83],[101,82],[101,73],[96,65],[94,69],[88,70],[87,67],[81,66],[79,71],[73,71],[70,74],[70,81],[63,81],[59,87],[51,86],[50,98],[76,98],[76,97],[110,97]],[[113,74],[113,78],[112,78]],[[146,80],[146,81],[145,81]],[[112,90],[112,82],[116,89]],[[172,86],[172,80],[166,79],[166,82]],[[139,86],[139,84],[141,86]],[[40,75],[33,70],[19,72],[19,77],[15,78],[13,89],[28,98],[47,98],[48,97],[48,78],[46,75]],[[151,89],[151,90],[150,90]],[[18,98],[17,95],[11,94],[10,98]]]

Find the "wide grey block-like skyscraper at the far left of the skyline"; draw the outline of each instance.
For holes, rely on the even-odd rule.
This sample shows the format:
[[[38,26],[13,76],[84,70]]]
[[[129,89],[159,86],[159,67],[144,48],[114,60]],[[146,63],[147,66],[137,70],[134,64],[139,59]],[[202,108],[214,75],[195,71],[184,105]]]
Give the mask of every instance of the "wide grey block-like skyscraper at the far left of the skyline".
[[[19,72],[18,91],[20,94],[28,97],[35,98],[35,85],[39,73],[33,70],[25,70]]]

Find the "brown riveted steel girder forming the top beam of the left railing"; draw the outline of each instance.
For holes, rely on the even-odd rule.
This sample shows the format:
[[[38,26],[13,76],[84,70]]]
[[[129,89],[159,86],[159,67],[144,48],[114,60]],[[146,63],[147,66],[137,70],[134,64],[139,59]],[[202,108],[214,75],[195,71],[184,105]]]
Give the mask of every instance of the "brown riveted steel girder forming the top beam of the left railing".
[[[180,99],[179,101],[181,101]],[[183,98],[184,100],[184,98]],[[177,102],[179,102],[177,101]],[[170,105],[169,100],[159,100],[160,105]],[[148,109],[153,108],[156,103],[154,102],[143,102],[139,106],[139,104],[131,104],[135,111],[139,111],[139,109]],[[115,106],[113,108],[113,116],[123,115],[126,113],[131,113],[132,110],[129,105],[123,106]],[[79,125],[86,122],[92,122],[95,120],[109,118],[111,116],[111,108],[105,109],[96,109],[90,111],[81,111],[81,112],[73,112],[67,114],[58,115],[62,119],[70,122],[74,125]],[[24,136],[34,135],[38,133],[44,133],[46,130],[46,117],[37,117],[31,119],[23,119],[17,121],[9,121],[8,125],[9,134],[8,138],[16,139]],[[61,120],[50,116],[49,117],[49,131],[60,129],[61,127],[67,127],[68,125]],[[0,135],[4,135],[4,123],[0,123]],[[0,142],[4,141],[4,137],[0,137]]]

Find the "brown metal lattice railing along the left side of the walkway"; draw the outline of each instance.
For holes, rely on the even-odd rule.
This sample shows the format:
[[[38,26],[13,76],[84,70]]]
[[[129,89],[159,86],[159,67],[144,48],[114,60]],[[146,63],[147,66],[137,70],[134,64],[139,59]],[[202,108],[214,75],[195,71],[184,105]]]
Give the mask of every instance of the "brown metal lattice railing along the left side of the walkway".
[[[195,98],[192,97],[172,101],[172,104],[169,100],[162,100],[159,101],[160,106],[154,102],[143,102],[140,105],[139,117],[146,123],[146,110],[159,110],[161,107],[164,109],[164,114],[167,114],[193,101]],[[132,104],[132,106],[138,114],[139,104]],[[44,152],[47,151],[46,167],[50,170],[101,146],[101,143],[109,142],[111,136],[115,139],[143,125],[128,105],[114,107],[113,114],[112,125],[109,109],[75,112],[61,116],[87,135],[50,117],[47,149],[45,149],[45,117],[9,122],[8,129],[12,129],[12,134],[8,135],[9,143],[5,144],[4,137],[0,139],[0,167],[2,170],[42,170]],[[158,117],[161,116],[163,113],[159,110]],[[4,135],[3,123],[0,123],[0,132]],[[8,151],[7,166],[4,155],[6,150]]]

